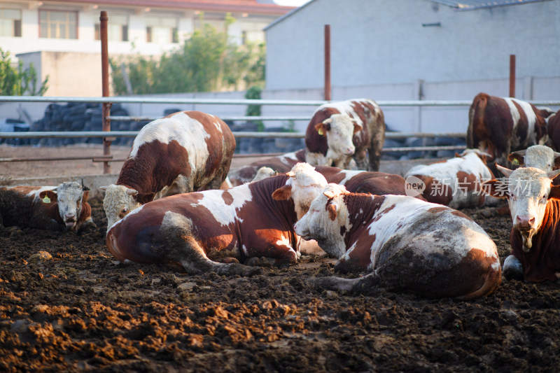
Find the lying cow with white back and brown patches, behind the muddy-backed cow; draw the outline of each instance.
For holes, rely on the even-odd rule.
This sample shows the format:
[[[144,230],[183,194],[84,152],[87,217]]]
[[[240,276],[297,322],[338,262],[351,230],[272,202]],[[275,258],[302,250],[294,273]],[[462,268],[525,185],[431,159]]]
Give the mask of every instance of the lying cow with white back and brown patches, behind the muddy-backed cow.
[[[487,156],[478,149],[466,149],[461,155],[444,162],[414,166],[405,174],[407,185],[410,185],[408,195],[421,195],[428,202],[452,209],[489,203],[480,188],[482,181],[493,178],[486,167]]]

